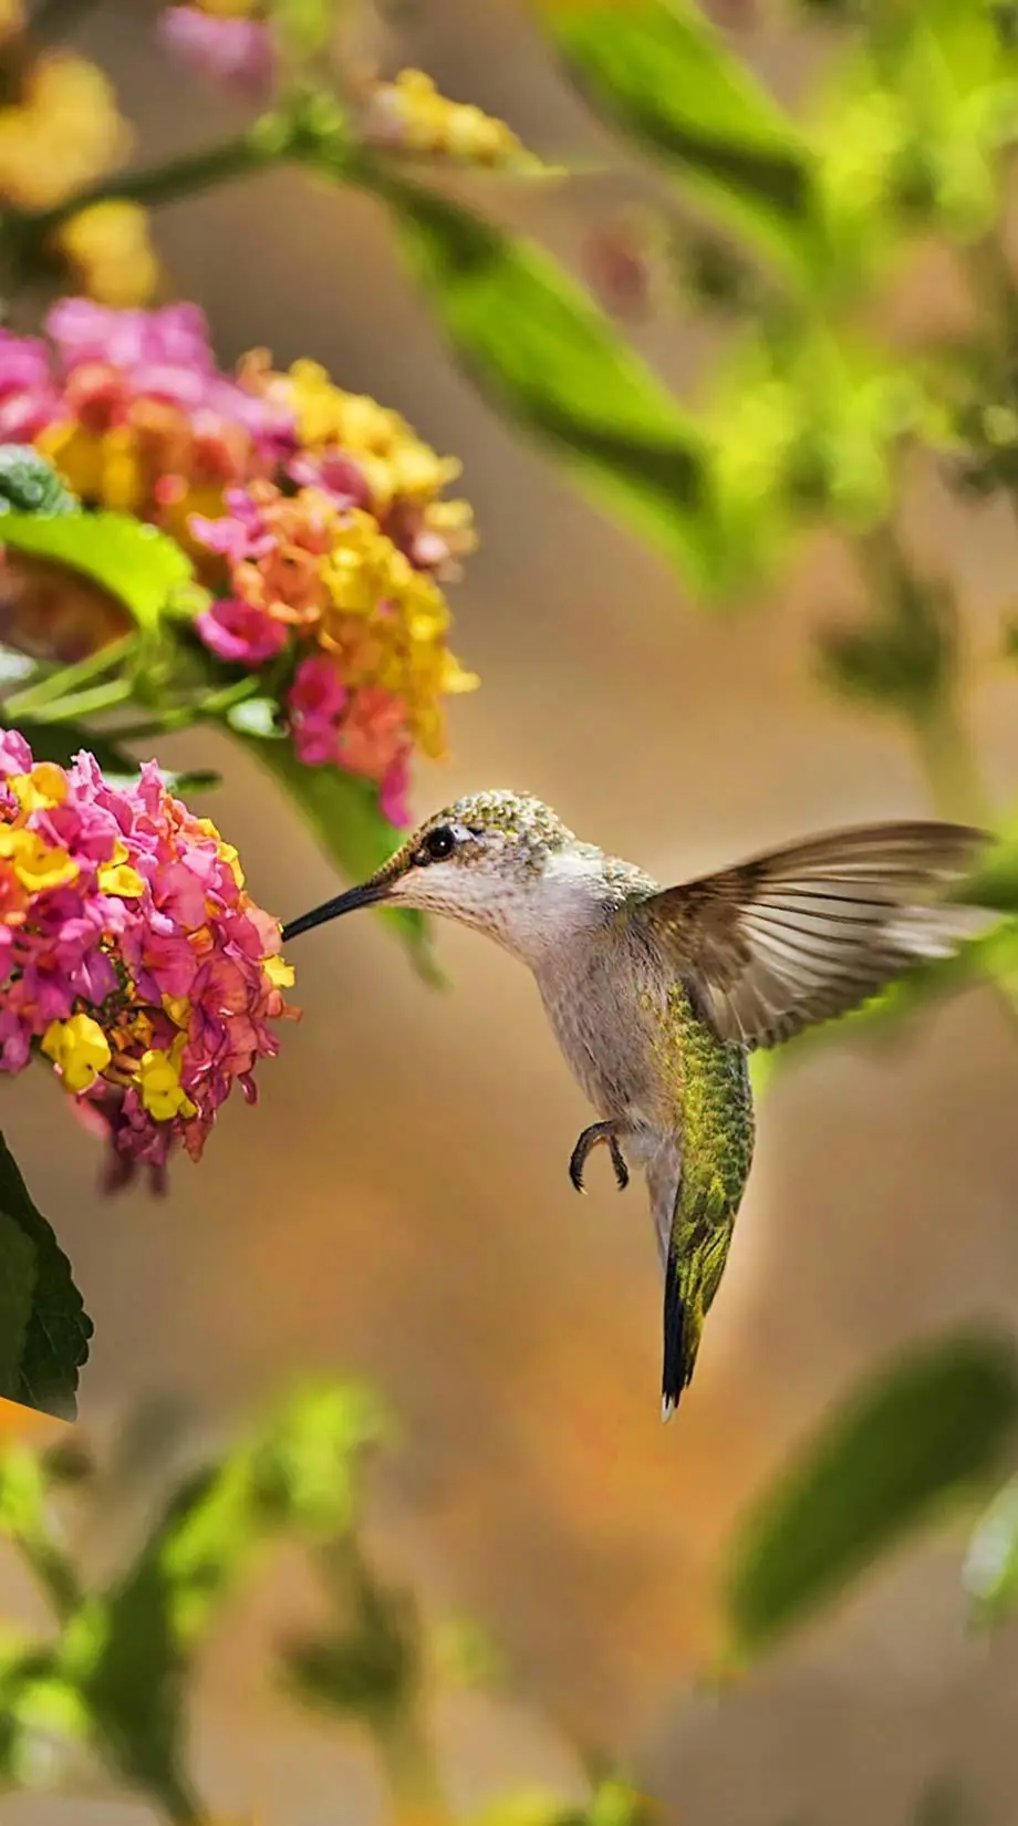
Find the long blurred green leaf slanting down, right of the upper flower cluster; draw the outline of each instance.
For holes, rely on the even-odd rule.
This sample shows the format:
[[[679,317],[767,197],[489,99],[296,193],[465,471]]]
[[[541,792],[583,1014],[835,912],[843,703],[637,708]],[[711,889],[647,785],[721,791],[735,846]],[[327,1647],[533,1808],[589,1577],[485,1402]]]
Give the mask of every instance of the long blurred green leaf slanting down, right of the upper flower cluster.
[[[697,588],[732,588],[702,433],[587,294],[535,243],[409,179],[369,161],[354,177],[396,210],[441,329],[507,418]]]

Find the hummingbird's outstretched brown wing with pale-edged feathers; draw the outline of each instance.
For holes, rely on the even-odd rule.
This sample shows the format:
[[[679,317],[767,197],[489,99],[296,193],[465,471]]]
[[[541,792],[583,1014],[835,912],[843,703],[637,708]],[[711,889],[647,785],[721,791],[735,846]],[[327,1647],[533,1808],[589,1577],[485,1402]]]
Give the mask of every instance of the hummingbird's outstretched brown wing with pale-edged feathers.
[[[947,897],[987,844],[956,824],[837,831],[666,887],[633,917],[721,1039],[775,1046],[983,929],[991,915]]]

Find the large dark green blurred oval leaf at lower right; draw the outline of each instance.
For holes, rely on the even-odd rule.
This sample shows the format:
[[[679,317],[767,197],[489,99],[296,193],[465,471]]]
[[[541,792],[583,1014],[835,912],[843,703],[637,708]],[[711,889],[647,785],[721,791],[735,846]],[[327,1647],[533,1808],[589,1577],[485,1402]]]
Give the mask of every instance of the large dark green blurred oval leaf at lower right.
[[[737,1653],[770,1647],[879,1554],[1000,1474],[1018,1426],[1018,1357],[992,1337],[914,1348],[825,1419],[764,1492],[733,1550]]]

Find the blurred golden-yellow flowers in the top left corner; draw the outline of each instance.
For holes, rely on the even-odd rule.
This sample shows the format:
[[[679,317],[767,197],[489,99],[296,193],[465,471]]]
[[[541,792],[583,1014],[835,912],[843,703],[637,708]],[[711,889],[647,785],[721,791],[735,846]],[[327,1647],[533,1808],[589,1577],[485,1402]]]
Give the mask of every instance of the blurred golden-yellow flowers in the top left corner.
[[[33,51],[16,42],[22,29],[24,7],[0,0],[0,46],[20,69],[15,99],[0,108],[0,201],[47,210],[117,166],[130,130],[95,64],[71,51]],[[55,252],[102,303],[144,303],[159,279],[146,214],[131,203],[82,210],[58,230]]]

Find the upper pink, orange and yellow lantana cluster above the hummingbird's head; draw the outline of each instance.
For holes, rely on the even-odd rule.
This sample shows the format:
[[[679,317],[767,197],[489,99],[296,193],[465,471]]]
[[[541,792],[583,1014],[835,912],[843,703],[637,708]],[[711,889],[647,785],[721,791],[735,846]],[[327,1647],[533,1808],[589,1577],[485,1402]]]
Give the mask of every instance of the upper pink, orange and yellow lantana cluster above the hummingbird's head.
[[[407,824],[412,752],[443,754],[443,701],[476,683],[441,588],[474,542],[445,498],[458,464],[314,362],[223,374],[193,305],[64,299],[46,329],[0,331],[0,440],[181,539],[213,593],[210,654],[265,676],[301,761],[374,782]]]

